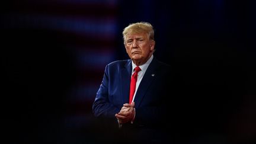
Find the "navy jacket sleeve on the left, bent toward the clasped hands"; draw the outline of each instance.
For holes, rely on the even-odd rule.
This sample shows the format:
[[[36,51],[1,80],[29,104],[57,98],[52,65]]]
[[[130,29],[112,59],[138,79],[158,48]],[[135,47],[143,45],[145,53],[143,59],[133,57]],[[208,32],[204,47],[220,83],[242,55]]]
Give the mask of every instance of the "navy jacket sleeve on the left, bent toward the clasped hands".
[[[116,113],[119,113],[119,108],[111,104],[108,100],[108,85],[110,84],[108,74],[109,68],[107,65],[105,67],[103,81],[92,104],[92,113],[95,117],[113,118]]]

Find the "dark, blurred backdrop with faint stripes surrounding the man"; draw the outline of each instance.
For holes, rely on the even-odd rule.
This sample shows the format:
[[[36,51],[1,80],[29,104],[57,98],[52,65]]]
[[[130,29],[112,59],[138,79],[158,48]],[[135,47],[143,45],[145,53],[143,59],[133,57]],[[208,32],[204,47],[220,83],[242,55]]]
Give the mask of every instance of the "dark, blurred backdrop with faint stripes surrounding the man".
[[[104,139],[91,105],[105,65],[129,58],[121,32],[146,21],[155,28],[154,56],[173,66],[182,85],[170,142],[254,143],[255,7],[221,0],[2,2],[1,140]]]

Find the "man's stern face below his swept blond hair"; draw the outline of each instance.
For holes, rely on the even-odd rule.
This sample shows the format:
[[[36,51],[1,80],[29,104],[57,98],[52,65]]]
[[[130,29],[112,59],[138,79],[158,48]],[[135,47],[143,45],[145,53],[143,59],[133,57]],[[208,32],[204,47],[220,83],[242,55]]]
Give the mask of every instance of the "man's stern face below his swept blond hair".
[[[133,62],[145,63],[153,53],[155,41],[149,40],[147,34],[127,34],[124,41],[126,52]]]

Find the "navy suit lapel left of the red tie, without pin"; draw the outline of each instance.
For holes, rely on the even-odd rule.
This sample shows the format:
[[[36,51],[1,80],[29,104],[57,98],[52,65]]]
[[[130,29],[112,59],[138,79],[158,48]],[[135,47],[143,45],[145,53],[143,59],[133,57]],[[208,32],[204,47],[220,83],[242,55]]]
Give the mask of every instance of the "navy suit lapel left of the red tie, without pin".
[[[132,73],[132,61],[128,60],[124,67],[121,69],[121,98],[123,104],[129,103],[129,91],[130,91],[130,76]]]

